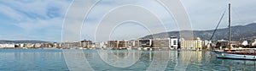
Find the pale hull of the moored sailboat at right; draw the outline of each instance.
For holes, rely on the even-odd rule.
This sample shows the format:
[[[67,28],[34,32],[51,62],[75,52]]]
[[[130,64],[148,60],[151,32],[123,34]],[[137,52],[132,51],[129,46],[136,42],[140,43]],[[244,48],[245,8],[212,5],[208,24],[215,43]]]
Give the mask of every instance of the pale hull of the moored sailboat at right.
[[[229,52],[215,52],[215,53],[218,58],[256,60],[256,56],[253,56],[253,55],[233,54]]]

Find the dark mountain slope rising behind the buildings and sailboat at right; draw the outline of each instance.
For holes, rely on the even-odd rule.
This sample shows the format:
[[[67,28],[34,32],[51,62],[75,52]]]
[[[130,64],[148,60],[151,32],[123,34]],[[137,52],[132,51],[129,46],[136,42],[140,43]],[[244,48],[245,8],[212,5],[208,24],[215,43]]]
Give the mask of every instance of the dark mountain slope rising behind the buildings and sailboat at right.
[[[212,26],[215,27],[215,26]],[[253,41],[256,38],[256,23],[248,24],[248,25],[236,25],[231,26],[231,41],[241,41],[241,37],[246,41]],[[212,33],[214,30],[193,30],[194,37],[200,37],[202,40],[210,40]],[[229,39],[229,29],[218,29],[214,34],[212,41],[218,40],[228,40]],[[159,34],[154,34],[154,38],[166,38],[170,36],[179,37],[179,31],[170,31],[163,32]],[[141,39],[153,38],[153,35],[146,35]]]

